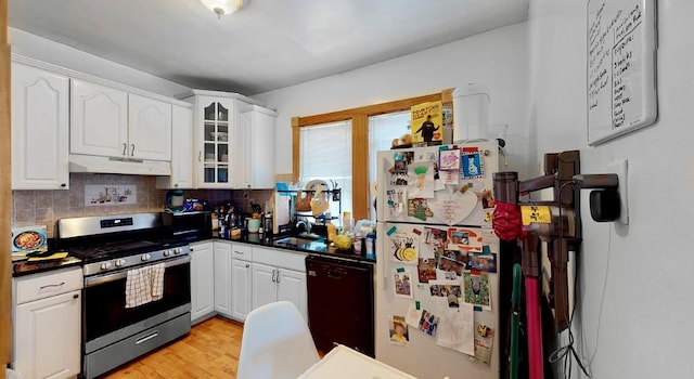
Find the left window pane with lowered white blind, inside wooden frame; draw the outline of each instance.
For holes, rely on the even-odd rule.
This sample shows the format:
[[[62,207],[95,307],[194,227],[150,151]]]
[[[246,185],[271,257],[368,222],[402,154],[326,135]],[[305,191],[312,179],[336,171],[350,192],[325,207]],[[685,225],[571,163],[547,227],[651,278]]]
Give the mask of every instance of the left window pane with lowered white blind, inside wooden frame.
[[[299,172],[301,183],[334,181],[342,188],[342,209],[351,210],[351,121],[301,128]],[[331,214],[339,215],[339,202],[331,201]]]

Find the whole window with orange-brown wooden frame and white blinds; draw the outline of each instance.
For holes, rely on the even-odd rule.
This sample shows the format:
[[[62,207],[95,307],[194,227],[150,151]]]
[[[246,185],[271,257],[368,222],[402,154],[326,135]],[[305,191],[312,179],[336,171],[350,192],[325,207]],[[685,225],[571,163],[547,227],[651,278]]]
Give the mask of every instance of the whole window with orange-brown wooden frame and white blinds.
[[[452,89],[448,89],[419,97],[323,115],[294,117],[294,181],[300,179],[306,182],[309,178],[336,180],[345,188],[343,209],[351,210],[355,220],[373,218],[370,211],[373,199],[369,194],[369,184],[371,178],[376,175],[375,168],[372,168],[375,165],[375,153],[390,148],[394,139],[407,133],[407,130],[402,130],[401,121],[407,119],[409,122],[410,107],[436,101],[451,106],[452,92]],[[349,170],[351,174],[347,173]]]

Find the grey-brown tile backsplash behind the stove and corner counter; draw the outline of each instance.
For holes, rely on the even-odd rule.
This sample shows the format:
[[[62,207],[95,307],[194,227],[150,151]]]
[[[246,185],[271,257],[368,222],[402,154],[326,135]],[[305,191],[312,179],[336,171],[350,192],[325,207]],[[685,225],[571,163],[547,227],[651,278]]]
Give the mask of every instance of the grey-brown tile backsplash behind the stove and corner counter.
[[[138,201],[136,205],[85,207],[86,184],[133,185]],[[13,191],[12,226],[47,225],[49,237],[53,237],[55,222],[64,218],[158,212],[164,209],[166,193],[166,190],[156,188],[155,177],[70,173],[69,190]],[[185,191],[185,197],[207,200],[210,207],[231,200],[243,212],[250,212],[250,200],[262,207],[271,196],[270,190]]]

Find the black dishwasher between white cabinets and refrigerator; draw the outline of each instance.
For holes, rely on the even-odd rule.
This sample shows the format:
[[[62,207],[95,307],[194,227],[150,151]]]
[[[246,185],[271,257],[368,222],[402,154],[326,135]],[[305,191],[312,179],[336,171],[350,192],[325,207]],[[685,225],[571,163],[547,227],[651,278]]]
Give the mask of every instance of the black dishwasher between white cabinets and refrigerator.
[[[374,357],[373,264],[306,257],[308,324],[316,348],[334,343]]]

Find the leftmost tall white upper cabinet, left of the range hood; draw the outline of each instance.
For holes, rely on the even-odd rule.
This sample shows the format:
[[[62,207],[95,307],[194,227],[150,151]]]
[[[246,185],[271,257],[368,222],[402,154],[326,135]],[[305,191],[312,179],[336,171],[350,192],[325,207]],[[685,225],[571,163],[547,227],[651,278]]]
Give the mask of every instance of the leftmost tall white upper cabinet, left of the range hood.
[[[69,79],[12,64],[12,190],[67,190]]]

